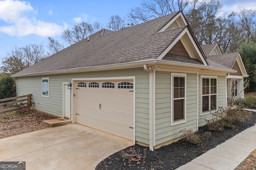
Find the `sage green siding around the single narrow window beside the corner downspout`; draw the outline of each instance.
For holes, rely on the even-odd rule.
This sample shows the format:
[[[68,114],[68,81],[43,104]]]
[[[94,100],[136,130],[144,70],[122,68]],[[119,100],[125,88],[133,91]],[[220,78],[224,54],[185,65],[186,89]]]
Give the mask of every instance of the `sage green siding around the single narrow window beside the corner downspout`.
[[[180,137],[197,125],[197,74],[186,74],[186,123],[171,126],[171,72],[156,72],[156,145]]]

